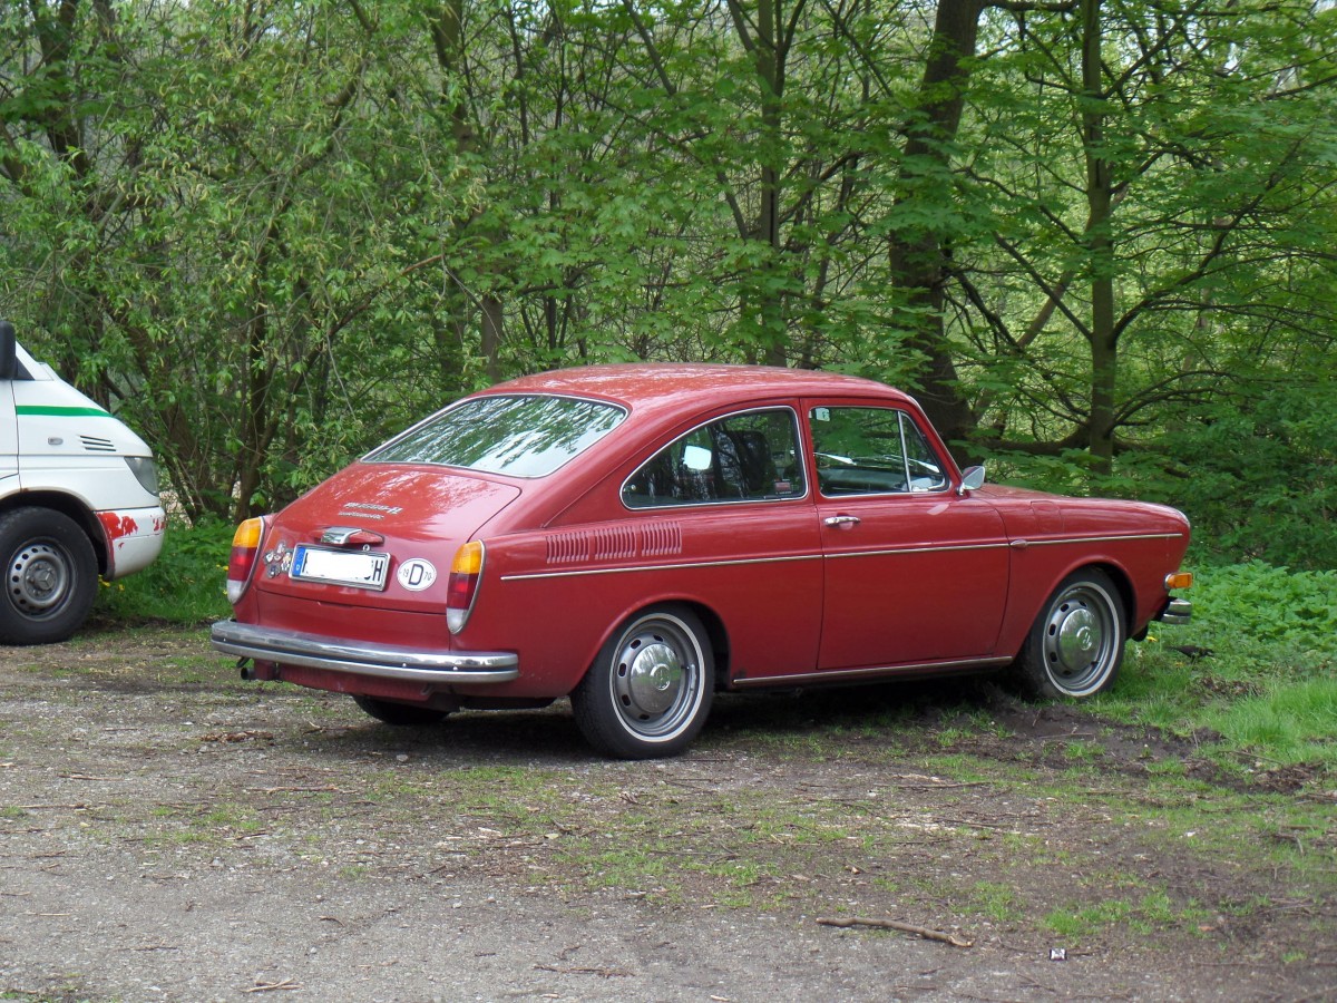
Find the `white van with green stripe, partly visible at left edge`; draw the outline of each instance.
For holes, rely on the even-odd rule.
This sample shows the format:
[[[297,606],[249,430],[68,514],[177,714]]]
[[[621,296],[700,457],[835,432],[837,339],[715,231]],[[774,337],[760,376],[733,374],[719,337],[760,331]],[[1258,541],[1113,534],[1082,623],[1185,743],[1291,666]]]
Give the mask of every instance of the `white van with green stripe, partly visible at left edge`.
[[[0,643],[64,641],[98,576],[152,563],[167,519],[144,440],[37,362],[0,321]]]

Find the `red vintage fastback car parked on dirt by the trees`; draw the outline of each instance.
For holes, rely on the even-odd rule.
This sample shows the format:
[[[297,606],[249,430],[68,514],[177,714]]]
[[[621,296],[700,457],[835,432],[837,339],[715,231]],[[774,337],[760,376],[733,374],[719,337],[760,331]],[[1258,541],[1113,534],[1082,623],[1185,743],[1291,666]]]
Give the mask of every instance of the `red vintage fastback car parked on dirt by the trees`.
[[[869,380],[529,376],[243,523],[213,645],[397,725],[570,697],[594,746],[643,758],[715,690],[1011,665],[1088,697],[1128,637],[1189,619],[1183,515],[983,481]]]

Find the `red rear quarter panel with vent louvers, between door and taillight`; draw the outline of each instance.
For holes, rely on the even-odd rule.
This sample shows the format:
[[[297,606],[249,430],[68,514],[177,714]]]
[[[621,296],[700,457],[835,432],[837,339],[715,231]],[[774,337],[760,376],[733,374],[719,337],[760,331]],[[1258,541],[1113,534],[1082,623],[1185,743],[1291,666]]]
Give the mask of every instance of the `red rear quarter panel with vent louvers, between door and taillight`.
[[[755,503],[624,518],[488,540],[473,615],[456,639],[516,650],[515,695],[570,693],[618,626],[687,603],[727,637],[730,674],[809,671],[821,622],[812,504]]]

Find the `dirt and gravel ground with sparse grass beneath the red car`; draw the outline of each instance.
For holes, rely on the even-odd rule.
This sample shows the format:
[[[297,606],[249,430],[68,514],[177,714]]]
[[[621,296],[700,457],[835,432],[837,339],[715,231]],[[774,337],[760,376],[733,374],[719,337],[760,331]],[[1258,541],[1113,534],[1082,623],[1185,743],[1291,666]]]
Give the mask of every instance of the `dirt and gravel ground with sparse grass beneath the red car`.
[[[1241,793],[1191,742],[956,682],[725,697],[610,762],[563,705],[390,729],[206,635],[0,649],[0,998],[1337,999],[1337,822],[1317,879],[1177,849]],[[1174,760],[1182,805],[1108,810]],[[1080,903],[1131,913],[1046,921]]]

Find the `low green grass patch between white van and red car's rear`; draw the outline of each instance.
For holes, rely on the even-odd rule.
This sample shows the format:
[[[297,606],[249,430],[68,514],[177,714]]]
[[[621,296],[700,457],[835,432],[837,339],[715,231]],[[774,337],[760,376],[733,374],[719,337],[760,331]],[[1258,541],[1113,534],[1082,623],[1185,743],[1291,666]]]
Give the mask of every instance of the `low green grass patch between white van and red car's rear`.
[[[231,607],[223,592],[234,527],[205,522],[167,527],[162,555],[143,571],[103,582],[94,606],[95,621],[118,625],[167,621],[207,623],[223,619]]]

